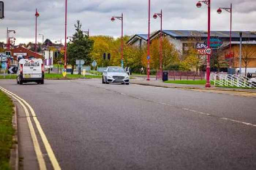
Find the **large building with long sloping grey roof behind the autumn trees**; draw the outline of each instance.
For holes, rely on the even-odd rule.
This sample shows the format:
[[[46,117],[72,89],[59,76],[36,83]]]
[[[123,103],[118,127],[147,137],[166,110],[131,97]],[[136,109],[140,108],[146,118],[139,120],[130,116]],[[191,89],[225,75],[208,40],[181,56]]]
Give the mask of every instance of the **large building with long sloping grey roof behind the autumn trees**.
[[[248,44],[246,42],[250,42],[251,47],[256,50],[256,32],[254,31],[232,31],[231,32],[231,44],[232,44],[232,52],[234,54],[233,58],[231,58],[231,63],[233,63],[233,67],[239,67],[239,60],[236,56],[239,56],[239,47],[240,43],[240,32],[242,32],[242,42],[244,44]],[[155,38],[160,37],[161,31],[157,31],[150,35],[150,41]],[[188,50],[188,46],[194,46],[199,54],[204,57],[206,55],[205,48],[208,37],[207,31],[196,31],[196,30],[162,30],[163,37],[167,38],[170,43],[172,43],[176,50],[182,55],[186,50]],[[221,53],[221,67],[228,67],[229,61],[227,62],[227,58],[225,58],[226,54],[229,52],[230,45],[230,31],[211,31],[211,39],[216,39],[219,41],[219,45],[213,48],[213,52],[216,53],[219,50],[223,50]],[[127,44],[132,46],[138,46],[138,48],[146,47],[148,38],[147,34],[136,34],[133,35],[128,41]],[[203,45],[203,46],[202,46]],[[256,67],[256,61],[252,56],[248,67]]]

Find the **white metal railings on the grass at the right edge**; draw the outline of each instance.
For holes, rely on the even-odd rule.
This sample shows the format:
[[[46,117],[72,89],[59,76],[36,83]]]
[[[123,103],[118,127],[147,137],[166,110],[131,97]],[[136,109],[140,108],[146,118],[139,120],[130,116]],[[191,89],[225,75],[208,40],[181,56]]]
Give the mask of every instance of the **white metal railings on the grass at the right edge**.
[[[256,83],[250,81],[243,75],[231,74],[216,74],[211,73],[210,80],[214,82],[215,86],[235,86],[235,87],[248,87],[256,88]]]

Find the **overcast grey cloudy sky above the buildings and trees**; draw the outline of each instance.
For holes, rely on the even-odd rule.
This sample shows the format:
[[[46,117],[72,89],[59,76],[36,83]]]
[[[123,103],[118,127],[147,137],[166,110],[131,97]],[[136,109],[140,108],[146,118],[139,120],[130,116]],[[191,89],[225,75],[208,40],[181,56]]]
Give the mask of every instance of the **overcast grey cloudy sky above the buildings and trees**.
[[[35,8],[40,14],[37,33],[52,41],[64,42],[65,0],[2,0],[5,18],[0,20],[0,41],[6,41],[6,27],[16,30],[16,44],[35,42]],[[163,10],[165,30],[207,30],[207,6],[196,8],[196,0],[151,0],[151,31],[159,30],[160,19],[153,19],[155,12]],[[233,30],[256,31],[256,0],[212,0],[211,30],[227,31],[230,15],[217,14],[219,6],[233,3]],[[147,34],[148,0],[68,0],[67,35],[74,34],[76,20],[90,35],[121,35],[121,22],[110,18],[124,13],[124,34]],[[11,36],[11,35],[10,35]],[[42,37],[38,36],[38,42]]]

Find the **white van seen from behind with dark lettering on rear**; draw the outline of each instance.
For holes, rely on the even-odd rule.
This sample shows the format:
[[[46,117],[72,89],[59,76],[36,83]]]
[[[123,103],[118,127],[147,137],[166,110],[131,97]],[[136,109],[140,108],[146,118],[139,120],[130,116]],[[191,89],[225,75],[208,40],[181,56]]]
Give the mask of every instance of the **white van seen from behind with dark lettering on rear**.
[[[20,59],[17,84],[36,82],[44,84],[44,64],[42,59]]]

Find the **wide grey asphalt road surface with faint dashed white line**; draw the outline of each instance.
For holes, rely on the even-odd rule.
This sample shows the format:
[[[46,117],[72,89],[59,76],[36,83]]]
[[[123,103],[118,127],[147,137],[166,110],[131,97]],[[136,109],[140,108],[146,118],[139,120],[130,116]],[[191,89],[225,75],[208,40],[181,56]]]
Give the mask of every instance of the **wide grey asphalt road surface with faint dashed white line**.
[[[256,167],[253,97],[99,79],[0,86],[33,107],[62,170]]]

